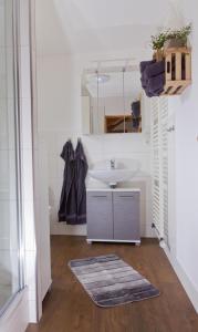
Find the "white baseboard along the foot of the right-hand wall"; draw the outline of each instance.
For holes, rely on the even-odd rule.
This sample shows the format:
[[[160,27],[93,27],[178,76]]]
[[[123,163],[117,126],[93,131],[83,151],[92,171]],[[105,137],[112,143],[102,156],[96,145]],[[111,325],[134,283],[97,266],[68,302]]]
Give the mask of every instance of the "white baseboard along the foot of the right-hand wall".
[[[198,313],[198,290],[196,289],[195,284],[191,282],[191,280],[188,278],[188,276],[186,274],[185,270],[183,269],[183,267],[180,266],[178,260],[175,257],[173,257],[168,247],[165,243],[161,243],[160,247],[164,249],[164,251],[165,251],[169,262],[171,263],[177,277],[179,278],[188,298],[190,299],[196,312]]]

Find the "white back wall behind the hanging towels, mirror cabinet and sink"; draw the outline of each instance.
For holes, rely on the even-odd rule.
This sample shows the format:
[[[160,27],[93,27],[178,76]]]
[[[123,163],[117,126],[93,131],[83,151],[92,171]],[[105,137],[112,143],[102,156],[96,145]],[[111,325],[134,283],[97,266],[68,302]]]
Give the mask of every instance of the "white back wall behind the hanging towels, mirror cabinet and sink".
[[[103,55],[104,59],[104,55]],[[38,56],[38,122],[40,139],[48,145],[49,190],[52,234],[85,234],[85,226],[70,227],[58,224],[58,208],[63,179],[63,160],[60,153],[65,141],[71,137],[74,146],[81,136],[81,73],[87,64],[82,56]],[[116,134],[83,136],[83,144],[90,165],[110,159],[125,159],[129,167],[132,159],[140,163],[142,176],[133,186],[140,186],[142,235],[152,236],[150,230],[150,146],[146,143],[149,113],[144,115],[143,134]]]

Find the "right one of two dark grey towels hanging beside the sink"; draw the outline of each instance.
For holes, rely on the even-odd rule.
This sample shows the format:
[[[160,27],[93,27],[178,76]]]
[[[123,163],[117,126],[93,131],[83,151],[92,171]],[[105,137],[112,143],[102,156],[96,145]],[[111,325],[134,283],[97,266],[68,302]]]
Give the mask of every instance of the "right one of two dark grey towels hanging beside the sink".
[[[87,162],[81,139],[75,149],[75,189],[76,189],[76,224],[86,222],[86,186]]]

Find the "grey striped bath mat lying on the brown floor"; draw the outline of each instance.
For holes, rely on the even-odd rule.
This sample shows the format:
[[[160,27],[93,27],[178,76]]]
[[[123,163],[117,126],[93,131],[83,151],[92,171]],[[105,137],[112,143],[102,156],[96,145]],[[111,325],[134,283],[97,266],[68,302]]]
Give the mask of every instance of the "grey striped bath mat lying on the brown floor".
[[[114,307],[159,295],[159,291],[116,255],[71,260],[69,267],[95,304]]]

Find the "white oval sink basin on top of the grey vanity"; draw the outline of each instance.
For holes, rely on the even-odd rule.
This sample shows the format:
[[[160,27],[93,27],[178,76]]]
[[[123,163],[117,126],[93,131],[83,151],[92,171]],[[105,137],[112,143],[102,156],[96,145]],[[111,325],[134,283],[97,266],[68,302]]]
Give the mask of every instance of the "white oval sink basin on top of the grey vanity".
[[[135,175],[135,170],[125,168],[113,169],[92,169],[88,170],[91,177],[101,180],[110,186],[116,186],[117,183],[127,181]]]

